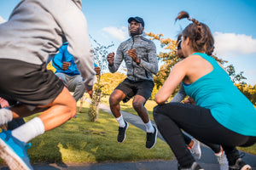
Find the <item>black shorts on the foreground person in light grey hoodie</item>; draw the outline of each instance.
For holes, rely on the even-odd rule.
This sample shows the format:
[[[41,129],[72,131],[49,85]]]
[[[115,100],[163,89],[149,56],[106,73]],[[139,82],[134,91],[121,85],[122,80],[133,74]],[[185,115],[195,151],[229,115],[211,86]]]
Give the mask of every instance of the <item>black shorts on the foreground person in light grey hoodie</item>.
[[[0,59],[0,97],[15,100],[33,110],[52,102],[64,88],[63,82],[45,64]]]

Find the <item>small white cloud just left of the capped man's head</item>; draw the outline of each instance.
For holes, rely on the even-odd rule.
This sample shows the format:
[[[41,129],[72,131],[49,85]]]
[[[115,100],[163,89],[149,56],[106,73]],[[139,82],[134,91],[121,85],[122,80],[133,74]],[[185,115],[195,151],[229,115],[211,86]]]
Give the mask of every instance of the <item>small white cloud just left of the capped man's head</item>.
[[[128,37],[127,27],[122,26],[121,28],[108,26],[102,29],[107,32],[111,37],[116,38],[119,41],[124,41]]]

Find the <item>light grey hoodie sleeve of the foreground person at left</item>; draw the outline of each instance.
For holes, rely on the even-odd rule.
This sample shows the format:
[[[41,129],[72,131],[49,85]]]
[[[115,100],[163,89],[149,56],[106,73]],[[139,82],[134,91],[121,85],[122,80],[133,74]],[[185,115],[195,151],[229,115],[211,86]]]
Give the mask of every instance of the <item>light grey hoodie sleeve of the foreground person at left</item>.
[[[73,55],[74,62],[84,78],[86,89],[91,89],[96,82],[93,49],[87,31],[87,21],[82,10],[73,1],[66,1],[68,11],[56,15],[59,25],[68,42],[67,51]]]

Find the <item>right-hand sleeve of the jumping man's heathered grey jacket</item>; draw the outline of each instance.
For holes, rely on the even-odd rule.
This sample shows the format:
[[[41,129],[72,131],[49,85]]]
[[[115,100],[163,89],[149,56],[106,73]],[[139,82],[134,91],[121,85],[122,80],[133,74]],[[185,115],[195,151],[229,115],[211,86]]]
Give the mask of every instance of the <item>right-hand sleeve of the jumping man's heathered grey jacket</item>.
[[[149,42],[148,47],[148,61],[145,61],[141,59],[141,63],[139,66],[141,66],[146,71],[152,72],[153,74],[157,74],[158,72],[158,61],[157,61],[157,54],[156,54],[156,48],[154,45],[154,42]]]

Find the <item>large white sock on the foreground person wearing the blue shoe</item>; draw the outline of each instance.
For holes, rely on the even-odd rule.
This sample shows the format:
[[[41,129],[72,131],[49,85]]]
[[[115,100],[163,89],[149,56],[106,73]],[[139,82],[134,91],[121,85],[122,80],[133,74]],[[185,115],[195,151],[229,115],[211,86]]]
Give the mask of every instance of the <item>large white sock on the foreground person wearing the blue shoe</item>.
[[[36,138],[40,134],[44,133],[44,123],[39,117],[33,118],[31,121],[26,122],[20,127],[15,128],[12,131],[12,135],[22,142],[27,143],[31,139]]]

